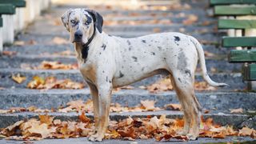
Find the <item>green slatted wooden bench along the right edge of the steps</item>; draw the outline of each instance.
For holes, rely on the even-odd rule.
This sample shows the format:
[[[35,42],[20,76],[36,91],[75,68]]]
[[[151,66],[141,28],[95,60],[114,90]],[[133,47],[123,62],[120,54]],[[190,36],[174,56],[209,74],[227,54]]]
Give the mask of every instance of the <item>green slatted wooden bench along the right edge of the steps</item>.
[[[223,37],[222,46],[243,48],[243,50],[230,50],[228,61],[230,63],[244,63],[242,68],[244,81],[256,81],[256,64],[254,64],[256,62],[256,50],[251,50],[252,47],[256,47],[256,36],[246,36],[246,30],[256,29],[256,20],[235,18],[256,15],[255,4],[255,0],[210,0],[210,6],[214,6],[214,16],[234,17],[234,19],[218,19],[218,29],[242,30],[242,37]],[[251,89],[251,83],[248,82],[248,90]]]

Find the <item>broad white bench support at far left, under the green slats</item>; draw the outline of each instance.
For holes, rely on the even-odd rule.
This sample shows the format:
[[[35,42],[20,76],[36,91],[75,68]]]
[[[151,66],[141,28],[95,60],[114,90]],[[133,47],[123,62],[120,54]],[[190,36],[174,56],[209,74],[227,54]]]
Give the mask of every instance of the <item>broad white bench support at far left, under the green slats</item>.
[[[2,15],[2,41],[3,43],[14,42],[14,15]]]

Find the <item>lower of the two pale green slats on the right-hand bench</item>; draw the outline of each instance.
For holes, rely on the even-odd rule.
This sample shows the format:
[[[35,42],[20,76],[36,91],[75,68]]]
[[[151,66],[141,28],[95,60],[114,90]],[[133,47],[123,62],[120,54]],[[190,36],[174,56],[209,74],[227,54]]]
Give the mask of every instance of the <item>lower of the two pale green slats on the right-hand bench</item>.
[[[256,20],[219,19],[218,29],[255,29]]]

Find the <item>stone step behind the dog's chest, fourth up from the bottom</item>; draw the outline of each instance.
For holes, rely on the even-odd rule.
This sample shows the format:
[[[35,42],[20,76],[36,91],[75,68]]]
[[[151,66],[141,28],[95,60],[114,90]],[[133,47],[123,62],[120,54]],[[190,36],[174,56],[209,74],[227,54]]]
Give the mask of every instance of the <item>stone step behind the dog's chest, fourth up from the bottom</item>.
[[[242,64],[229,63],[226,60],[226,54],[218,55],[219,59],[206,58],[207,70],[214,69],[214,72],[240,72],[242,70]],[[221,59],[225,58],[225,59]],[[43,61],[50,62],[62,62],[65,64],[77,63],[75,56],[54,56],[54,55],[16,55],[14,57],[2,56],[0,57],[0,68],[22,68],[21,66],[26,64],[29,66],[39,66]],[[198,64],[200,68],[200,64]]]

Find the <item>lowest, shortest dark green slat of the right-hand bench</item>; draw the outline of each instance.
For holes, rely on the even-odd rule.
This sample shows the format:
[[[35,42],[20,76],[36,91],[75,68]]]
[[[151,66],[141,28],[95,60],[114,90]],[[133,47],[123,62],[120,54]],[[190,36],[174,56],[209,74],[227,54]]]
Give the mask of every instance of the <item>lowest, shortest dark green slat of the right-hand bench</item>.
[[[250,64],[243,68],[243,79],[245,81],[255,81],[256,80],[256,64]]]

